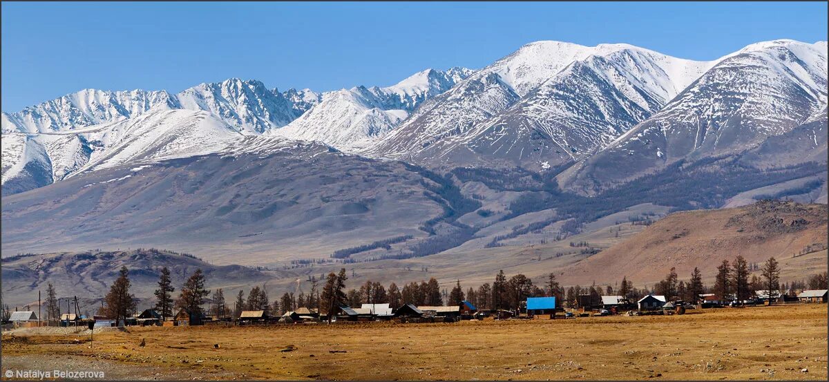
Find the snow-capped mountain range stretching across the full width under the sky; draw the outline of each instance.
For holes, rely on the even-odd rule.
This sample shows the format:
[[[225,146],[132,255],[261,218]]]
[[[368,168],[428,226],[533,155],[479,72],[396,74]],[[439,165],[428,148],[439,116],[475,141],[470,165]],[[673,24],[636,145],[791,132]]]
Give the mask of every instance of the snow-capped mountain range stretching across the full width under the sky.
[[[177,94],[85,89],[2,114],[2,192],[269,147],[259,140],[317,141],[427,167],[570,167],[560,185],[589,192],[673,161],[768,147],[801,126],[822,134],[814,142],[825,150],[826,104],[826,41],[791,40],[711,61],[538,41],[481,70],[429,69],[388,87],[322,94],[239,79]]]

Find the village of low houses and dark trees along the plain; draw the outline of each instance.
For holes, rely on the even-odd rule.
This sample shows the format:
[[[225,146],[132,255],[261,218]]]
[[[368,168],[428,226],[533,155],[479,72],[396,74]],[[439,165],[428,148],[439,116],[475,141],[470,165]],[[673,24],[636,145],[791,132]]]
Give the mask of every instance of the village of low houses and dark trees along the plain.
[[[166,269],[166,268],[165,268]],[[500,272],[490,286],[463,292],[460,281],[450,293],[436,279],[409,283],[402,289],[395,283],[384,288],[366,282],[359,290],[346,291],[346,270],[329,273],[320,292],[313,279],[310,293],[285,293],[279,301],[269,303],[264,287],[254,287],[247,299],[239,291],[231,312],[224,291],[212,293],[204,288],[205,277],[196,270],[181,288],[174,301],[169,271],[162,270],[155,291],[153,307],[138,311],[138,299],[129,293],[128,269],[122,268],[109,294],[101,301],[98,314],[83,314],[78,298],[67,298],[65,312],[49,284],[46,302],[38,311],[27,308],[12,312],[3,307],[3,329],[38,326],[86,326],[90,330],[121,326],[249,326],[284,324],[327,324],[338,322],[458,322],[461,320],[571,319],[595,316],[642,316],[685,314],[688,310],[722,307],[768,306],[793,303],[827,302],[827,273],[812,275],[807,281],[783,283],[774,258],[762,269],[763,280],[753,275],[749,265],[737,257],[720,265],[715,285],[705,288],[701,273],[695,268],[688,283],[671,272],[651,290],[633,288],[623,278],[618,293],[613,287],[570,287],[565,291],[550,273],[544,288],[522,274],[507,279]],[[808,288],[808,287],[816,288]],[[209,297],[210,296],[210,297]],[[209,305],[208,309],[204,309]],[[46,311],[44,316],[43,310]]]

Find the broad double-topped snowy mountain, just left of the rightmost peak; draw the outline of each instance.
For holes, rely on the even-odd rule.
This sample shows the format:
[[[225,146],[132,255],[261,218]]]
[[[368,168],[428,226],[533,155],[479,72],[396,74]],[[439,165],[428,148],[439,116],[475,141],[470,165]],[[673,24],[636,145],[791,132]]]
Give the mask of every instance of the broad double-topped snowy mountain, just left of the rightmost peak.
[[[366,154],[538,171],[604,147],[714,63],[624,44],[535,42],[430,100]]]

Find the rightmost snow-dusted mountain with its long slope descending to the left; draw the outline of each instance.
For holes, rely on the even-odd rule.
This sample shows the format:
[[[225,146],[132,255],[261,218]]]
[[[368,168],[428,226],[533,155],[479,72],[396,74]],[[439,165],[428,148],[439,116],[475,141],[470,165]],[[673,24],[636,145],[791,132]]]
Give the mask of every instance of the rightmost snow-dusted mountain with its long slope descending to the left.
[[[802,124],[812,123],[812,131],[820,133],[816,125],[825,121],[826,104],[826,41],[747,46],[705,72],[657,114],[572,167],[560,176],[560,184],[589,193],[679,160],[738,154]],[[817,138],[810,141],[819,145]],[[620,162],[625,165],[618,166]]]

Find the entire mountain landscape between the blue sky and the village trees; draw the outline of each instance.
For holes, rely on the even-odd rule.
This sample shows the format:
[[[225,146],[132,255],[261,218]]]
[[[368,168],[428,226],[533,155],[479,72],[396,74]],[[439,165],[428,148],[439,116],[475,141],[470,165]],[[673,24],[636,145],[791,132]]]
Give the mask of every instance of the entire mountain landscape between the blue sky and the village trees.
[[[812,207],[752,215],[764,199]],[[671,268],[657,259],[663,228],[781,209],[811,228],[777,239],[795,234],[758,228],[773,247],[711,256],[822,244],[809,259],[825,265],[826,209],[814,204],[826,203],[826,41],[710,61],[537,41],[478,70],[383,87],[230,79],[175,94],[85,89],[2,113],[3,292],[18,295],[51,278],[103,295],[116,263],[147,279],[189,264],[214,286],[266,280],[274,295],[342,267],[354,283],[474,285],[499,269],[589,283],[645,252],[628,277],[653,283]],[[676,243],[668,252],[693,253]],[[685,257],[683,270],[721,261],[711,256]],[[67,276],[79,264],[84,276]]]

